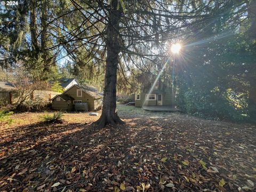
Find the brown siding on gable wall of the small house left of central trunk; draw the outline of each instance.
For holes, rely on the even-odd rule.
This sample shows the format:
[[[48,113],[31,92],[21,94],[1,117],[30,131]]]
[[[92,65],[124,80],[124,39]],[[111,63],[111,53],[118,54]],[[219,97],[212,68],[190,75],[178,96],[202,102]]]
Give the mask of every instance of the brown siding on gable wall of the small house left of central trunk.
[[[82,100],[82,102],[87,102],[89,106],[89,110],[94,110],[94,98],[92,98],[89,94],[82,91],[82,97],[76,96],[76,90],[79,89],[77,86],[71,87],[65,94],[70,95],[70,97],[74,98],[74,100]]]

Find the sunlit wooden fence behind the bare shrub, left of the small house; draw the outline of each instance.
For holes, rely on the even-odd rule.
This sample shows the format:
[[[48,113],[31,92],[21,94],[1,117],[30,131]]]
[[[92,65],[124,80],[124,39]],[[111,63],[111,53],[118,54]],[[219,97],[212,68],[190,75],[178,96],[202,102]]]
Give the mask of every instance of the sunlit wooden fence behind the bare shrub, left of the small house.
[[[18,101],[20,92],[15,91],[0,91],[0,105],[12,104]],[[35,98],[49,101],[55,97],[55,95],[61,94],[54,91],[41,91],[35,90],[30,94],[29,99],[34,100]]]

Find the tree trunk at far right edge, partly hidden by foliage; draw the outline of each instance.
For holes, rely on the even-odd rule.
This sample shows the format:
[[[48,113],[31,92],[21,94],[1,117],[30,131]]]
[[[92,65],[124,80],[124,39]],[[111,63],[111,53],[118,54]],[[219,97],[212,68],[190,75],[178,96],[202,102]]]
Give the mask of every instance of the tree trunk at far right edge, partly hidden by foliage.
[[[256,2],[254,0],[249,0],[247,2],[248,9],[248,17],[251,21],[250,29],[248,30],[248,34],[250,37],[250,41],[254,42],[256,39]],[[248,77],[250,82],[249,87],[249,100],[248,100],[248,110],[249,115],[252,121],[256,122],[256,71],[255,71],[255,63],[251,65],[249,69]]]

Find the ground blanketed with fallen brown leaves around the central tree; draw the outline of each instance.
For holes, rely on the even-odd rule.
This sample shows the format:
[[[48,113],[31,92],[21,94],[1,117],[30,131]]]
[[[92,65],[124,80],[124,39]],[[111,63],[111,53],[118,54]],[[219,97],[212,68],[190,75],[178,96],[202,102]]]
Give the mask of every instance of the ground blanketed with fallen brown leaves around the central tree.
[[[126,122],[13,115],[0,129],[0,191],[255,191],[255,126],[118,107]]]

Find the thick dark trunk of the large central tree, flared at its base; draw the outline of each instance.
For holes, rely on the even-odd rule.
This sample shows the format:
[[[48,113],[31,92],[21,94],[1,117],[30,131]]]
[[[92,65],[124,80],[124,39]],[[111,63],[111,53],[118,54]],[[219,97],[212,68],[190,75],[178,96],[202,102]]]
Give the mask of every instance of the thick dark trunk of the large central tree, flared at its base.
[[[116,81],[117,81],[117,65],[118,54],[121,51],[119,42],[119,20],[122,10],[118,6],[118,0],[111,1],[111,10],[108,16],[107,26],[107,63],[105,75],[105,87],[103,97],[102,114],[98,123],[99,128],[105,127],[107,124],[116,125],[124,123],[116,113]]]

